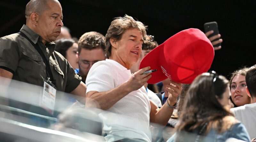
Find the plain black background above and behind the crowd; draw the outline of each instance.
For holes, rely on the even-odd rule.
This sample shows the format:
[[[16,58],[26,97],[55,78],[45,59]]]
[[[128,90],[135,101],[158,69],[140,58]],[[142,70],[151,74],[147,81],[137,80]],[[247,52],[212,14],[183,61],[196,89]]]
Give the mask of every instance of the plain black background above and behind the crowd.
[[[25,24],[28,0],[0,0],[0,37],[19,32]],[[147,34],[158,44],[188,28],[204,31],[204,23],[216,21],[222,49],[215,51],[211,70],[229,78],[242,66],[255,62],[256,1],[140,1],[140,0],[60,0],[64,26],[79,38],[89,31],[105,35],[114,17],[130,15],[148,25]],[[0,47],[1,48],[1,47]]]

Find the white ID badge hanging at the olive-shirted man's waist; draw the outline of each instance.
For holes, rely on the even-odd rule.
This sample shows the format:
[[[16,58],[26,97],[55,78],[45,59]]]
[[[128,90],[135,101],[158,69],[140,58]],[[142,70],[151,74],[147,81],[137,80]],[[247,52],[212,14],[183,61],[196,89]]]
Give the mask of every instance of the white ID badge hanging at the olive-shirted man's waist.
[[[42,101],[40,102],[40,106],[46,109],[50,114],[53,115],[54,105],[56,99],[56,89],[51,81],[44,81],[44,90]]]

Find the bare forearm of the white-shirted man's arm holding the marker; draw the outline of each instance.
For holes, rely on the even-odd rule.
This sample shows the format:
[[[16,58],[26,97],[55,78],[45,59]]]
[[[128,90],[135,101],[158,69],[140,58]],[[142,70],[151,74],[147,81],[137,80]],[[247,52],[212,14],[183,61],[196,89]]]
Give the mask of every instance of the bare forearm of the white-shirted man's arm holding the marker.
[[[131,88],[127,87],[126,82],[106,92],[90,91],[86,94],[85,105],[108,110],[130,92],[132,92]]]

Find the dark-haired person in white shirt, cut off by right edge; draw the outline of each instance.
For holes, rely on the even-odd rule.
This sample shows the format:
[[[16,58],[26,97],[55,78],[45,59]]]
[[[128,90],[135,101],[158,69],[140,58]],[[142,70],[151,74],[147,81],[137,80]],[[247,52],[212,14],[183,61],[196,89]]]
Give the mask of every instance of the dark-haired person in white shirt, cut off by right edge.
[[[246,92],[251,97],[251,104],[232,108],[237,120],[241,121],[247,129],[250,138],[256,138],[256,64],[252,66],[245,76]]]

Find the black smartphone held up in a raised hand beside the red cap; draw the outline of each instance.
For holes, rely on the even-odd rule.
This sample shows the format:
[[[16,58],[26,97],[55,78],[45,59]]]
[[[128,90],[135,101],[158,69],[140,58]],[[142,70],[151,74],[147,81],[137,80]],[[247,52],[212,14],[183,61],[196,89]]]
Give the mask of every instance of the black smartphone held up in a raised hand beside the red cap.
[[[214,35],[219,34],[217,22],[208,22],[208,23],[204,23],[204,32],[206,33],[206,32],[211,31],[211,30],[213,30],[213,33],[210,34],[210,35],[208,36],[208,38],[209,38],[209,37],[212,37],[212,36],[214,36]],[[213,41],[217,41],[217,40],[219,40],[219,39],[220,39],[220,38],[217,38],[217,39],[215,39],[215,40],[213,40]],[[214,45],[214,47],[219,47],[220,45],[221,45],[221,44],[218,43],[218,44]]]

